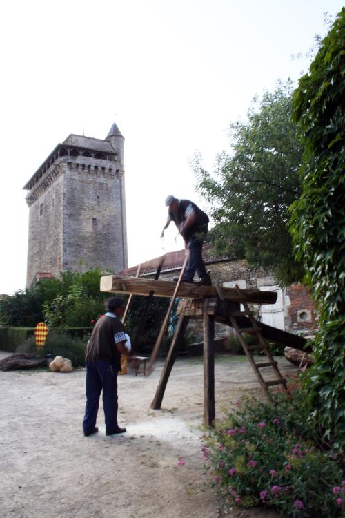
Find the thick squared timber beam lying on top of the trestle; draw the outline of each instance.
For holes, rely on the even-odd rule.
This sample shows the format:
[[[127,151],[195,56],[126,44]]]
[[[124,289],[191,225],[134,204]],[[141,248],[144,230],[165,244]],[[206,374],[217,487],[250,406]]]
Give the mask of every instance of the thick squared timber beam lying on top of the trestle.
[[[172,298],[176,288],[176,282],[170,280],[150,280],[120,275],[107,275],[101,277],[101,291],[107,293],[124,293],[133,295],[148,295],[155,292],[155,297]],[[241,301],[257,304],[274,304],[277,300],[275,291],[260,291],[259,289],[242,289],[242,297],[237,294],[235,288],[222,288],[224,300]],[[197,286],[195,284],[181,282],[178,298],[217,298],[215,286]]]

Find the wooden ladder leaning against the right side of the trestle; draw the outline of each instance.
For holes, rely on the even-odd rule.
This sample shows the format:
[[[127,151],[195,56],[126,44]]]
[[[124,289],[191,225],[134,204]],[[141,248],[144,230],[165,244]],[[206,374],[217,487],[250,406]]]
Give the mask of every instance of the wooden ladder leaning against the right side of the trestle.
[[[252,312],[250,311],[248,307],[248,303],[246,302],[244,298],[244,294],[242,294],[241,289],[237,285],[235,285],[235,289],[237,291],[237,294],[239,296],[239,302],[242,303],[244,307],[244,311],[229,311],[229,318],[231,321],[231,325],[233,329],[235,329],[235,332],[239,338],[239,342],[241,343],[244,352],[248,358],[248,361],[250,365],[253,367],[253,370],[255,372],[255,375],[257,376],[257,380],[259,381],[259,384],[262,387],[262,390],[264,390],[266,396],[268,396],[269,399],[272,399],[270,396],[270,392],[268,391],[268,387],[273,387],[273,385],[282,385],[282,389],[284,392],[288,393],[288,387],[286,386],[286,379],[283,378],[281,372],[279,371],[277,361],[273,358],[272,354],[270,354],[270,350],[268,349],[266,342],[264,340],[264,336],[262,336],[261,328],[257,325],[257,322],[255,318],[253,317]],[[219,295],[219,298],[222,298],[221,289],[217,287],[217,292]],[[250,321],[250,327],[239,327],[236,317],[240,316],[246,316],[248,317],[248,320]],[[246,340],[244,339],[243,333],[248,334],[255,334],[257,337],[257,343],[255,345],[248,345],[246,343]],[[256,362],[252,352],[263,350],[264,354],[267,357],[268,361],[262,361],[262,362]],[[275,373],[276,379],[271,381],[265,381],[264,377],[262,376],[262,372],[260,371],[263,367],[272,367],[273,372]]]

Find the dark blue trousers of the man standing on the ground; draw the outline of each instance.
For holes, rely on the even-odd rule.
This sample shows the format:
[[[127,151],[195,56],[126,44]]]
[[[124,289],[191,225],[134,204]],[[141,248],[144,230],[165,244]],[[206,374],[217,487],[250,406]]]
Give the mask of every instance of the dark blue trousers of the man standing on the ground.
[[[117,367],[106,360],[87,363],[84,432],[90,432],[95,428],[102,390],[106,430],[115,430],[117,428]]]

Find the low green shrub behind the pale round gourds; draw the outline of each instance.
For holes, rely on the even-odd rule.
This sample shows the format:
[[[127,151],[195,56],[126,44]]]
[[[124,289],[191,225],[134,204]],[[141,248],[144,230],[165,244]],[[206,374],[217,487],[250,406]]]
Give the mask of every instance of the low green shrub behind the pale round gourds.
[[[59,334],[51,332],[48,334],[44,347],[37,349],[34,337],[28,338],[26,343],[17,347],[17,352],[33,352],[38,350],[39,356],[53,354],[54,356],[63,356],[72,361],[73,367],[85,365],[85,349],[86,341],[78,338],[72,338],[68,334]]]

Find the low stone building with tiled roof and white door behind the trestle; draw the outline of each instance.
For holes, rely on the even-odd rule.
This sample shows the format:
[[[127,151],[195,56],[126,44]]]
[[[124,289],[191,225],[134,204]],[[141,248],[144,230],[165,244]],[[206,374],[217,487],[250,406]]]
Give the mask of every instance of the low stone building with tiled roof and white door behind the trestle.
[[[160,280],[170,280],[179,275],[184,262],[185,251],[170,252],[166,254]],[[141,265],[141,277],[154,278],[160,258],[144,262]],[[256,288],[265,291],[276,291],[277,302],[275,304],[255,306],[252,309],[257,318],[265,324],[283,329],[288,332],[310,335],[317,327],[317,314],[315,304],[308,289],[302,285],[290,285],[288,287],[277,286],[273,276],[263,268],[251,268],[245,259],[219,258],[216,256],[210,244],[204,244],[204,262],[206,269],[210,271],[213,284],[224,287]],[[137,267],[121,271],[121,275],[135,276]],[[202,322],[190,320],[188,330],[195,340],[202,340]],[[216,338],[228,336],[229,327],[216,323]]]

